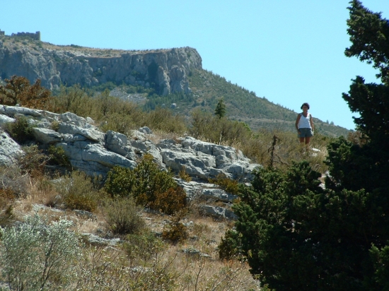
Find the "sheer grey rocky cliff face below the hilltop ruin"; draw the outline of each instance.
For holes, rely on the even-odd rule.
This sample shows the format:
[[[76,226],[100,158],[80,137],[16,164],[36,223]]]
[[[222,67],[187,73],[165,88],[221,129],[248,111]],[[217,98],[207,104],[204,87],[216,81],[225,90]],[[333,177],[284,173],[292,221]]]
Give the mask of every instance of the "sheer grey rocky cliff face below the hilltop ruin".
[[[24,76],[31,83],[39,78],[50,90],[60,84],[91,86],[111,81],[155,88],[162,95],[189,93],[187,75],[192,69],[202,69],[202,59],[191,47],[125,51],[0,37],[1,78]]]

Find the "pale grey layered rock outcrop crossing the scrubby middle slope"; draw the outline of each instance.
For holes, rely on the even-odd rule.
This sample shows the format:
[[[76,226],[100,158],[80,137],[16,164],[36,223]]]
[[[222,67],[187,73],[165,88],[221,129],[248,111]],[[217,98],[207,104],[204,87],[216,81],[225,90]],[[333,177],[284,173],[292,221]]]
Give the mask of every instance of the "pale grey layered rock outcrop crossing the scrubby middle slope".
[[[40,148],[48,148],[50,145],[63,148],[74,169],[88,175],[105,177],[115,166],[133,169],[139,158],[146,153],[153,155],[162,170],[170,169],[176,173],[185,170],[192,181],[176,179],[187,192],[188,199],[203,196],[226,205],[231,204],[237,197],[209,184],[208,179],[221,174],[241,182],[250,182],[252,171],[260,167],[250,163],[235,148],[199,141],[190,136],[179,138],[178,141],[164,139],[153,143],[149,139],[152,133],[147,127],[133,131],[133,138],[115,131],[103,133],[93,125],[92,119],[84,119],[70,112],[54,114],[5,105],[0,106],[0,165],[11,165],[16,156],[23,153],[21,146],[1,129],[1,124],[4,126],[6,122],[14,122],[14,118],[21,115],[33,124],[33,135]],[[228,209],[211,206],[202,208],[210,215],[234,218]]]

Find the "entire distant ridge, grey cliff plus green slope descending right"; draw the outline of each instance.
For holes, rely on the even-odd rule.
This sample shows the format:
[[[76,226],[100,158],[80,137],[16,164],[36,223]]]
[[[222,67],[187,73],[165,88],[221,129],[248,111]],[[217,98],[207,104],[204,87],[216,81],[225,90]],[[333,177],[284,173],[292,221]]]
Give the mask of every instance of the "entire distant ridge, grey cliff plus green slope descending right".
[[[60,85],[93,87],[111,82],[151,88],[149,109],[176,103],[176,111],[189,116],[193,109],[213,112],[223,97],[227,116],[251,129],[295,131],[296,112],[202,69],[196,49],[95,49],[75,44],[59,46],[24,35],[0,33],[0,77],[40,78],[50,90]],[[177,99],[172,93],[180,95]],[[174,94],[173,94],[174,95]],[[315,119],[315,128],[327,136],[347,136],[349,130]]]

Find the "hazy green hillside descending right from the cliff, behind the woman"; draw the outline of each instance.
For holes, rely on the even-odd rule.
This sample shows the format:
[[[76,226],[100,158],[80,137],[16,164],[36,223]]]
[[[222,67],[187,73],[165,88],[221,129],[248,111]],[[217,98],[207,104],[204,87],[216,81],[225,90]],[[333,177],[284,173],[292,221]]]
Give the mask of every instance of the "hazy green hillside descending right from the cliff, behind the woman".
[[[257,97],[254,92],[206,70],[192,70],[188,79],[192,96],[175,100],[176,110],[182,114],[188,115],[196,108],[214,112],[217,102],[223,97],[227,117],[243,121],[253,130],[296,131],[294,124],[298,112],[276,105],[265,97]],[[325,136],[347,136],[350,132],[317,118],[314,118],[314,123],[315,131]]]

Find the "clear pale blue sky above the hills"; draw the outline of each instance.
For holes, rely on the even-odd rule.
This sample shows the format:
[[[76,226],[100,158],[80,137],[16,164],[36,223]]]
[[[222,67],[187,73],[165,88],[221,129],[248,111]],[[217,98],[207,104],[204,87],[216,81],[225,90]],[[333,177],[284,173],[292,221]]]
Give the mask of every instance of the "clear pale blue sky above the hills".
[[[52,44],[112,49],[194,47],[203,68],[259,97],[354,129],[342,93],[377,82],[349,47],[347,0],[0,0],[0,29]],[[362,4],[389,18],[389,0]]]

